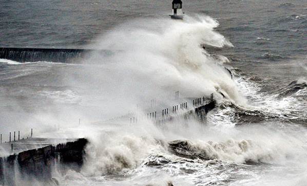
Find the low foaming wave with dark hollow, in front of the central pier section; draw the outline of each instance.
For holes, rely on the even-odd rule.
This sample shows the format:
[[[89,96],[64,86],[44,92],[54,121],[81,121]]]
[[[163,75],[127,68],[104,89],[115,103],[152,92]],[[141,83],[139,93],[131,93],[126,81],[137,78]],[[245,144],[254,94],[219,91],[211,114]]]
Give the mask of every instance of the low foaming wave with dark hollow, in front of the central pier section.
[[[168,144],[171,153],[187,159],[266,163],[271,162],[274,156],[270,152],[262,151],[262,146],[251,140],[224,142],[176,140]]]

